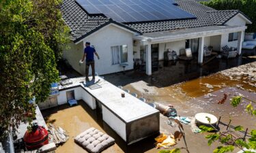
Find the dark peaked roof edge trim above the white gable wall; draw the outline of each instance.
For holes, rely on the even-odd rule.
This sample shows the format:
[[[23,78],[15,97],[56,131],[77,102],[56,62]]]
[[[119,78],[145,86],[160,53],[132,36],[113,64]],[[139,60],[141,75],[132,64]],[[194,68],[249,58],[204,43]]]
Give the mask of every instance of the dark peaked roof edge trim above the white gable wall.
[[[81,35],[81,37],[75,39],[75,40],[73,41],[74,44],[79,43],[79,41],[83,40],[83,39],[84,39],[85,37],[87,37],[88,35],[91,35],[92,33],[95,33],[96,31],[102,29],[103,27],[106,27],[106,26],[109,25],[109,24],[117,24],[118,26],[123,27],[123,28],[125,28],[125,29],[128,29],[129,31],[132,31],[132,32],[134,32],[134,33],[139,33],[139,35],[142,35],[142,34],[143,34],[143,33],[141,33],[140,31],[137,31],[137,30],[135,30],[135,29],[132,29],[131,27],[128,27],[128,26],[126,26],[125,24],[122,24],[122,23],[117,22],[117,21],[115,21],[115,20],[112,20],[112,19],[110,18],[108,22],[105,22],[104,24],[101,24],[99,27],[96,27],[95,29],[89,31],[88,33],[85,33],[84,35]]]

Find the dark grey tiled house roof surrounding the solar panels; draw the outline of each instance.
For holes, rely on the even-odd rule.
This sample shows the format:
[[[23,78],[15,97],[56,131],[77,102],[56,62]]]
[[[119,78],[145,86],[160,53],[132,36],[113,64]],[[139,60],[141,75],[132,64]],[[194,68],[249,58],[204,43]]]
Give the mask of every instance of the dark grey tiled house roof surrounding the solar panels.
[[[207,27],[213,25],[223,25],[225,22],[241,13],[238,10],[217,11],[194,0],[175,0],[177,6],[186,12],[195,15],[195,19],[165,20],[154,22],[130,22],[120,23],[111,18],[106,18],[103,14],[89,15],[83,10],[75,0],[63,0],[61,12],[63,19],[70,27],[71,39],[74,42],[80,41],[87,35],[98,31],[108,24],[117,24],[135,33],[152,33],[156,31],[169,31],[175,29],[188,29],[195,27]],[[244,15],[244,14],[242,14]],[[246,16],[245,16],[246,17]],[[246,17],[247,18],[247,17]]]

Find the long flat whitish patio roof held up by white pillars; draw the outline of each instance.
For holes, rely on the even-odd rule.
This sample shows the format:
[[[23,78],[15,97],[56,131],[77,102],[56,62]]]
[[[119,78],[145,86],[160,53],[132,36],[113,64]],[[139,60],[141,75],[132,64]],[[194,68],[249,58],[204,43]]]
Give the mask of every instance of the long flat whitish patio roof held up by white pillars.
[[[179,41],[182,39],[192,39],[196,37],[208,37],[212,35],[221,35],[223,33],[233,33],[244,31],[246,26],[209,26],[190,29],[177,29],[172,31],[158,31],[153,33],[143,33],[143,35],[134,36],[143,44],[157,44],[168,41]]]

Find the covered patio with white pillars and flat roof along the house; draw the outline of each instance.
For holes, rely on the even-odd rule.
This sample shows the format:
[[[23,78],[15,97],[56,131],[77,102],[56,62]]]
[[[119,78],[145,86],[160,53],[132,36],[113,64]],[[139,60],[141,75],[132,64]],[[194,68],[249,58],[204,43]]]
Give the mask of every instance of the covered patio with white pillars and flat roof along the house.
[[[205,46],[211,46],[217,54],[221,54],[223,46],[236,48],[238,54],[242,52],[242,41],[246,26],[210,26],[173,31],[160,31],[144,33],[134,36],[134,58],[142,59],[145,63],[147,75],[152,75],[152,65],[155,60],[163,60],[164,52],[174,50],[177,56],[180,50],[190,48],[193,53],[198,53],[197,63],[202,64]],[[229,41],[230,33],[236,33],[236,39]],[[194,44],[194,45],[191,45]]]

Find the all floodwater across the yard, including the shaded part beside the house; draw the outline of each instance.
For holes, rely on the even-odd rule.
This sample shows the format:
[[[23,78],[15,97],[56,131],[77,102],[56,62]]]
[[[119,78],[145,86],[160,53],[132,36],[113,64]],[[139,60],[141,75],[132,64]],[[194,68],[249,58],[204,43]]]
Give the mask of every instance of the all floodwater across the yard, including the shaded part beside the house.
[[[243,100],[241,105],[236,108],[231,107],[229,103],[231,96],[222,105],[218,104],[218,101],[223,98],[224,93],[244,95],[244,97],[256,99],[256,80],[254,77],[256,67],[254,65],[242,67],[238,69],[238,71],[244,71],[240,75],[237,71],[230,69],[251,63],[256,59],[240,57],[228,62],[220,59],[216,59],[216,61],[203,67],[195,65],[195,61],[191,63],[178,61],[175,65],[169,63],[155,71],[150,77],[141,71],[130,71],[125,75],[116,73],[104,77],[116,86],[122,85],[124,89],[127,88],[130,92],[136,92],[139,97],[147,99],[147,103],[157,101],[165,105],[174,105],[180,116],[191,117],[199,112],[207,112],[214,114],[217,118],[221,117],[221,121],[226,124],[231,119],[233,126],[242,125],[249,130],[255,128],[256,118],[244,112],[248,101]],[[250,73],[246,73],[246,71],[250,71]],[[75,107],[60,105],[42,111],[42,114],[46,116],[46,123],[61,126],[70,135],[70,139],[59,146],[56,152],[86,152],[81,146],[74,143],[74,137],[91,126],[115,139],[115,145],[103,152],[155,153],[160,151],[154,148],[154,137],[126,146],[126,143],[102,121],[102,116],[98,112],[100,111],[91,110],[83,101],[79,101],[79,105]],[[169,126],[165,120],[167,118],[160,115],[160,132],[174,133],[177,127]],[[221,129],[225,130],[225,126],[221,126]],[[218,143],[208,146],[205,134],[193,133],[189,125],[184,125],[184,130],[190,153],[208,153],[218,146]],[[178,141],[175,147],[184,148],[184,139]],[[182,152],[186,151],[182,150]]]

